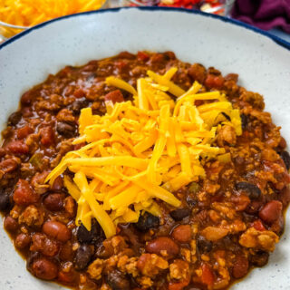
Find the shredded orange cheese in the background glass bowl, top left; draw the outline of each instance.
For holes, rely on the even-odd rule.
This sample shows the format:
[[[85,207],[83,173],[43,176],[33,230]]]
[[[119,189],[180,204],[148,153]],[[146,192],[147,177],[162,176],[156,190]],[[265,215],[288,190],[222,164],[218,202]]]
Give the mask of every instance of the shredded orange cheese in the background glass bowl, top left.
[[[68,14],[97,10],[104,0],[0,0],[0,21],[19,26],[34,26]]]

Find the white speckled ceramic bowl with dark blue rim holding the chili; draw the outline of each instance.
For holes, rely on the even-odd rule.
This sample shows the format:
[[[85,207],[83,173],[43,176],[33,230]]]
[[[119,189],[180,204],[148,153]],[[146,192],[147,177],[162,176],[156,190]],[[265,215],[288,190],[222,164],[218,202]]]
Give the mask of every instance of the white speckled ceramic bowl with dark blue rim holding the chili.
[[[0,45],[0,124],[20,94],[64,65],[123,50],[171,50],[180,60],[239,73],[240,83],[265,96],[266,111],[290,143],[290,44],[245,24],[188,10],[128,8],[76,14],[35,26]],[[235,290],[290,289],[290,211],[269,264],[233,285]],[[0,228],[0,289],[49,290],[35,279]]]

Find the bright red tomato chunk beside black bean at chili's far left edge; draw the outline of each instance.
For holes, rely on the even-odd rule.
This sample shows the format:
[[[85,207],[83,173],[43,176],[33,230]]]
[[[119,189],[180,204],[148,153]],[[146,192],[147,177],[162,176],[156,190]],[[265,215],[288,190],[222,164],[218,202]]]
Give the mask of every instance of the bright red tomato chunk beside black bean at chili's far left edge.
[[[14,190],[14,202],[19,206],[28,206],[39,200],[39,195],[34,192],[28,181],[19,179]]]

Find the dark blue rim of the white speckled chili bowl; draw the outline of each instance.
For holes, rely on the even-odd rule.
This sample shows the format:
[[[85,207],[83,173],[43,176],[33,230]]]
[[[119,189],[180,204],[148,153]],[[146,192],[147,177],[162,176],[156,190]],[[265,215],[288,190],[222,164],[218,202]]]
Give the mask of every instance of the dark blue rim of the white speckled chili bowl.
[[[25,30],[23,32],[21,32],[19,34],[15,34],[13,37],[9,38],[4,43],[1,43],[0,44],[0,51],[5,46],[7,46],[11,43],[14,43],[18,39],[22,38],[25,34],[30,34],[31,32],[33,32],[36,29],[40,29],[43,26],[46,26],[46,25],[54,23],[54,22],[61,21],[61,20],[66,19],[66,18],[73,18],[73,17],[78,17],[78,16],[82,16],[82,15],[89,15],[89,14],[103,14],[103,13],[110,13],[110,12],[118,13],[121,10],[133,10],[133,9],[134,10],[138,9],[141,11],[142,10],[143,11],[152,11],[152,12],[155,12],[155,11],[181,12],[181,13],[187,13],[187,14],[199,14],[199,15],[203,15],[205,17],[215,18],[215,19],[218,19],[218,20],[226,22],[226,23],[230,23],[230,24],[234,24],[234,25],[237,25],[240,27],[244,27],[245,29],[248,29],[248,30],[255,32],[256,34],[262,34],[262,35],[266,36],[267,38],[273,40],[278,45],[284,47],[286,50],[290,51],[290,43],[288,43],[284,39],[282,39],[278,36],[275,36],[274,34],[270,34],[267,31],[264,31],[260,28],[252,26],[250,24],[246,24],[246,23],[243,23],[241,21],[238,21],[236,19],[221,16],[218,14],[208,14],[208,13],[202,12],[200,10],[196,10],[196,9],[186,9],[186,8],[177,8],[177,7],[160,7],[160,6],[116,7],[116,8],[86,11],[86,12],[77,13],[77,14],[68,14],[68,15],[58,17],[58,18],[53,18],[53,19],[45,21],[41,24],[37,24],[37,25],[34,25],[32,27],[29,27],[28,29],[26,29],[27,27],[24,27]],[[12,25],[12,24],[9,24],[9,25]],[[14,25],[12,25],[12,26],[14,26]],[[21,26],[16,26],[15,28],[17,28],[17,27],[21,27]]]

